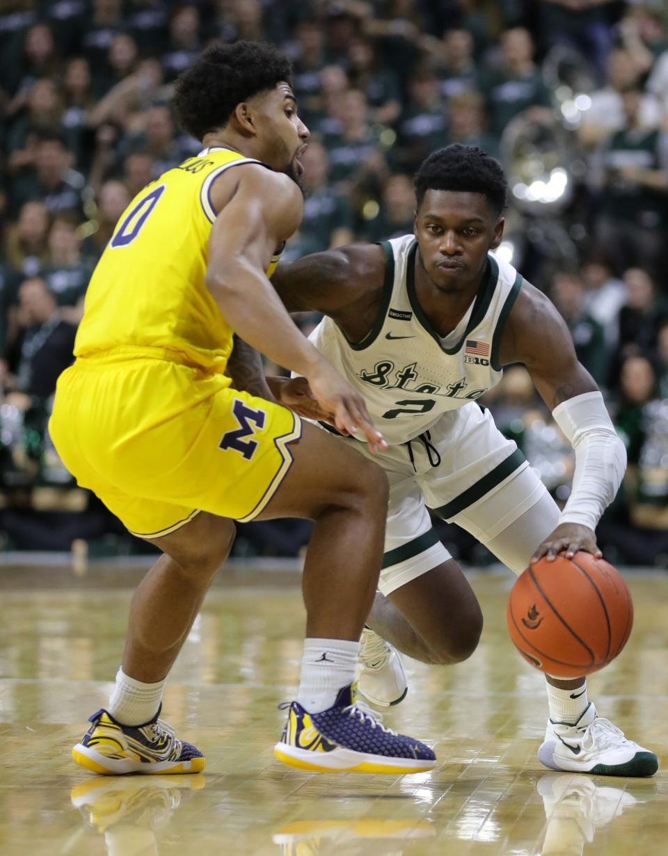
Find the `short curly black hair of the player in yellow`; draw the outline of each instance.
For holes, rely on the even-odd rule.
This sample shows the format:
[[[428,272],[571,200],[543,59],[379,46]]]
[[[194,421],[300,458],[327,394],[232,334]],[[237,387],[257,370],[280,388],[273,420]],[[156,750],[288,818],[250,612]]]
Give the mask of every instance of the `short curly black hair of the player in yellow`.
[[[258,92],[291,82],[287,56],[263,42],[212,45],[176,80],[172,107],[176,121],[201,140],[223,128],[237,104]]]

